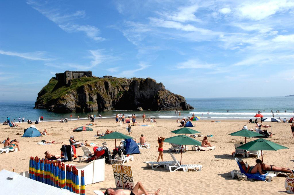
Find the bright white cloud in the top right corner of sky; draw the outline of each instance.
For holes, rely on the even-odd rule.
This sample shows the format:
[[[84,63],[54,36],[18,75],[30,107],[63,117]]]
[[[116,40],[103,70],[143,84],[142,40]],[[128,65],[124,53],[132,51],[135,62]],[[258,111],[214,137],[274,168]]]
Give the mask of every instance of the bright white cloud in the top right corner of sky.
[[[237,13],[242,18],[251,20],[262,20],[275,14],[278,11],[287,11],[294,8],[293,1],[276,0],[276,1],[249,1],[238,7]]]

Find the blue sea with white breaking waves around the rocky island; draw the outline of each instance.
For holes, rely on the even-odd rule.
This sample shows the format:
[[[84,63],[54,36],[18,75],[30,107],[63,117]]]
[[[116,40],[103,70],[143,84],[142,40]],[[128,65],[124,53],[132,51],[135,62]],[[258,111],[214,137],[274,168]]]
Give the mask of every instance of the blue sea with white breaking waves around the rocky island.
[[[47,112],[45,109],[34,109],[34,102],[0,102],[0,122],[4,122],[6,117],[10,120],[25,117],[26,120],[39,120],[39,116],[44,117],[44,121],[56,121],[61,118],[77,120],[88,118],[88,114],[99,114],[103,118],[115,118],[116,113],[130,116],[135,114],[137,118],[141,118],[145,113],[147,118],[157,119],[177,119],[192,116],[194,113],[201,119],[206,120],[223,120],[223,119],[254,119],[254,115],[259,111],[265,117],[280,117],[287,120],[294,115],[294,97],[225,97],[225,98],[187,98],[187,103],[195,109],[181,111],[130,111],[130,110],[113,110],[105,112],[72,112],[72,113],[53,113]],[[273,110],[273,113],[271,112]],[[276,111],[280,112],[276,112]],[[286,112],[285,112],[286,110]],[[208,113],[209,112],[209,113]]]

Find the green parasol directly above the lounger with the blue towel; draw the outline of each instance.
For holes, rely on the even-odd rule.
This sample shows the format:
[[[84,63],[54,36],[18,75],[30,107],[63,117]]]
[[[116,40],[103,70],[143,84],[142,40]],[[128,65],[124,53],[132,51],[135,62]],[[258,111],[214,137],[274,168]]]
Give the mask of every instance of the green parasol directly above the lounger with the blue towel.
[[[279,150],[279,149],[289,149],[285,146],[281,146],[274,142],[268,141],[266,139],[256,139],[254,141],[248,142],[247,144],[243,144],[242,146],[237,147],[236,149],[245,149],[245,150],[261,150],[261,160],[263,162],[262,151],[263,150]]]

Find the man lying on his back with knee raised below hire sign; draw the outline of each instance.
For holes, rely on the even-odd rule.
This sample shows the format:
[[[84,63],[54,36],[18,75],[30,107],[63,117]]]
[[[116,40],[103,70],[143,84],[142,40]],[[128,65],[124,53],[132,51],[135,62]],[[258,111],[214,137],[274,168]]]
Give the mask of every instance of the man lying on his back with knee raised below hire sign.
[[[140,190],[139,190],[140,189]],[[146,191],[142,185],[142,183],[139,181],[133,188],[132,191],[130,190],[124,190],[124,189],[118,189],[114,190],[112,188],[107,188],[105,191],[105,195],[150,195],[150,194],[156,194],[158,195],[160,191],[160,188],[157,191]]]

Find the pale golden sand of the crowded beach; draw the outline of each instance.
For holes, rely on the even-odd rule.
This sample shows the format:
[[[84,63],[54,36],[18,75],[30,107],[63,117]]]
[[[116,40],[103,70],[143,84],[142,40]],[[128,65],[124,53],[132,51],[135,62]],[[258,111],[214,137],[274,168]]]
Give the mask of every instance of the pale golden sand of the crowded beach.
[[[175,120],[158,120],[157,123],[147,124],[153,125],[151,127],[143,127],[141,119],[137,120],[137,126],[132,127],[132,137],[139,140],[141,134],[144,134],[146,141],[151,144],[151,149],[141,149],[141,154],[134,154],[134,161],[130,161],[128,165],[132,166],[133,177],[135,183],[142,181],[146,189],[155,191],[161,187],[160,194],[163,195],[176,195],[176,194],[286,194],[284,182],[285,177],[275,177],[272,182],[263,181],[240,181],[238,179],[232,179],[230,171],[238,169],[237,163],[232,157],[234,151],[234,144],[244,142],[244,137],[230,136],[229,133],[241,130],[244,124],[247,124],[248,128],[255,128],[255,124],[249,124],[248,121],[240,120],[221,120],[218,123],[212,123],[208,120],[198,120],[196,127],[192,129],[202,132],[201,135],[213,135],[208,137],[208,141],[212,145],[216,146],[214,151],[189,151],[183,152],[182,164],[201,164],[203,165],[201,172],[169,172],[164,168],[158,168],[152,170],[147,168],[144,161],[156,161],[158,157],[157,152],[157,137],[172,137],[175,134],[170,133],[172,130],[176,130],[179,123]],[[47,129],[49,134],[44,137],[23,138],[24,128],[30,125],[26,123],[18,123],[20,127],[10,128],[7,125],[0,126],[0,137],[2,140],[6,137],[11,139],[17,139],[20,142],[19,152],[10,152],[8,154],[0,154],[0,169],[6,169],[15,172],[24,172],[29,169],[29,157],[39,156],[44,157],[44,152],[49,151],[52,154],[59,155],[60,147],[62,144],[51,145],[38,145],[37,142],[41,140],[46,141],[58,141],[69,144],[68,140],[71,135],[78,140],[82,140],[81,132],[72,132],[76,127],[86,125],[88,120],[75,120],[69,121],[69,123],[59,122],[41,122],[36,127],[42,131]],[[110,149],[114,148],[114,140],[96,139],[94,137],[97,130],[105,130],[108,128],[112,131],[118,131],[128,135],[126,130],[126,124],[120,126],[116,124],[115,120],[96,119],[97,125],[92,126],[93,132],[84,132],[83,139],[88,142],[99,143],[98,146],[102,146],[101,143],[106,141]],[[193,122],[195,124],[195,122]],[[270,123],[263,123],[270,125]],[[278,151],[264,151],[263,160],[266,164],[274,164],[277,166],[284,166],[293,168],[294,160],[291,151],[294,149],[292,133],[289,124],[277,124],[272,123],[272,132],[275,134],[268,140],[281,144],[289,149],[282,149]],[[270,131],[270,127],[268,128]],[[16,135],[17,133],[21,135]],[[202,137],[194,138],[198,141],[202,141]],[[256,138],[248,138],[247,142]],[[118,144],[118,143],[117,143]],[[3,144],[2,144],[3,147]],[[164,144],[164,160],[171,160],[171,156],[168,152],[168,143]],[[90,148],[90,151],[93,151]],[[77,149],[77,155],[82,155],[83,151]],[[175,157],[180,160],[180,153],[173,152]],[[241,156],[237,156],[243,158]],[[255,165],[256,157],[245,158],[249,165]],[[78,162],[74,160],[75,164],[81,164],[85,162]],[[105,164],[105,181],[86,186],[86,194],[94,194],[93,190],[101,189],[105,190],[108,187],[115,187],[113,173],[111,165]]]

